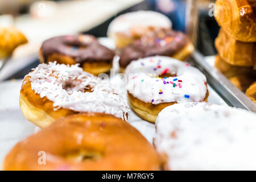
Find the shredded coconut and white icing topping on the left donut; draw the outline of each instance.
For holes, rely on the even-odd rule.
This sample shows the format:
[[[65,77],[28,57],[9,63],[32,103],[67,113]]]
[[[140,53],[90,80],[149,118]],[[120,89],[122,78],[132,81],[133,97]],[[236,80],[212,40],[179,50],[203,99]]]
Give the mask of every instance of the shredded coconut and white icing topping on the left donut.
[[[122,119],[128,112],[125,99],[114,92],[108,81],[82,71],[78,65],[39,64],[28,76],[32,90],[52,101],[56,110],[62,107],[81,113],[107,113]],[[72,88],[63,89],[67,84]],[[81,92],[90,88],[92,92]]]

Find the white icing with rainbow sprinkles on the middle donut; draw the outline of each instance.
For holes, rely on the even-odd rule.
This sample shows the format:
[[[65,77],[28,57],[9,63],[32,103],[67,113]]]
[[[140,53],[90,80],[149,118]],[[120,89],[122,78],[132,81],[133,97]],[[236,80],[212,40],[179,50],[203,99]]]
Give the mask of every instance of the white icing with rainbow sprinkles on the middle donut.
[[[176,77],[156,78],[166,69],[168,69],[167,74],[176,75]],[[132,61],[126,67],[125,74],[128,78],[127,91],[147,103],[200,102],[207,94],[205,85],[207,79],[203,73],[188,63],[171,57],[153,56]],[[174,81],[175,79],[177,80]],[[174,87],[172,83],[176,86]],[[162,94],[160,94],[161,90]]]

